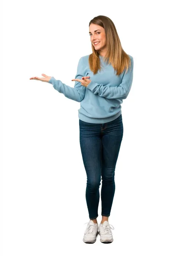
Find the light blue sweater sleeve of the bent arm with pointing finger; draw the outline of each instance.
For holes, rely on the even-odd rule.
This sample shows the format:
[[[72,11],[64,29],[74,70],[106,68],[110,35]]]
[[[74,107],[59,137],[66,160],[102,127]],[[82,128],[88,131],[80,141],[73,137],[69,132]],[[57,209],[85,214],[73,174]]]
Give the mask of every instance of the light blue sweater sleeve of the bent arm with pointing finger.
[[[91,81],[86,88],[91,90],[92,93],[98,94],[99,96],[107,99],[126,99],[133,81],[133,58],[130,58],[130,60],[131,69],[129,67],[127,73],[124,73],[122,82],[119,86],[104,86],[103,84],[97,84],[94,81]]]

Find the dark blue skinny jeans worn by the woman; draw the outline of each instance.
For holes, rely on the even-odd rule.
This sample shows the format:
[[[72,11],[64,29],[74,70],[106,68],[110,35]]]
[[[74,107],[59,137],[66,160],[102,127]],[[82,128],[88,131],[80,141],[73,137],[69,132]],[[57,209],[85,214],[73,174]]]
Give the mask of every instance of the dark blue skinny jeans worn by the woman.
[[[103,124],[79,119],[80,148],[87,174],[85,197],[90,219],[98,217],[101,176],[102,216],[110,216],[115,192],[114,173],[122,138],[122,113]]]

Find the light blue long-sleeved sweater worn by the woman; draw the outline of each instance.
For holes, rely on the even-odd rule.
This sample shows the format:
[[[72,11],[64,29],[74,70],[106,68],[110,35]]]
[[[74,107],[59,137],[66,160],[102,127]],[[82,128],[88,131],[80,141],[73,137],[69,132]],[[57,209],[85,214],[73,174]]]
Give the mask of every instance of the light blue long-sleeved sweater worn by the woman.
[[[122,113],[122,102],[126,99],[133,81],[133,57],[128,55],[131,61],[131,68],[126,69],[116,76],[116,70],[104,57],[99,55],[101,71],[93,74],[89,68],[88,57],[79,59],[75,79],[82,79],[82,76],[90,76],[91,82],[87,87],[81,82],[75,81],[74,87],[63,84],[54,76],[48,81],[59,93],[63,93],[68,99],[80,102],[78,110],[79,119],[90,123],[106,123],[116,119]]]

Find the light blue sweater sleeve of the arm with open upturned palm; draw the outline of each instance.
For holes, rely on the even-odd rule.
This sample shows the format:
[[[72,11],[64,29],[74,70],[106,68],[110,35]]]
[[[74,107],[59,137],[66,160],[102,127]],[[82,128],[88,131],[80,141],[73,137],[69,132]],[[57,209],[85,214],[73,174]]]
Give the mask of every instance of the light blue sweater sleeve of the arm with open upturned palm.
[[[82,76],[85,76],[84,72],[85,69],[81,57],[77,66],[77,74],[75,76],[75,79],[82,79]],[[86,87],[81,85],[79,81],[75,81],[75,85],[73,88],[66,84],[63,84],[62,81],[56,80],[54,76],[52,76],[48,83],[52,84],[55,90],[57,90],[59,93],[63,93],[68,99],[72,99],[77,102],[81,102],[84,99]]]

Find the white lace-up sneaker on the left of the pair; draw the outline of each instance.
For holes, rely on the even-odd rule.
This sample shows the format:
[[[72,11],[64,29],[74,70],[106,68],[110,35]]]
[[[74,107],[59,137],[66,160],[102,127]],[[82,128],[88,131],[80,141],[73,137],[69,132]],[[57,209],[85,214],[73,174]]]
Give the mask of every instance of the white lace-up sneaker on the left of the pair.
[[[83,242],[87,244],[93,244],[96,241],[96,236],[98,235],[98,223],[94,223],[92,220],[87,222],[88,225],[85,230],[85,235],[83,238]],[[85,223],[86,224],[86,223]]]

